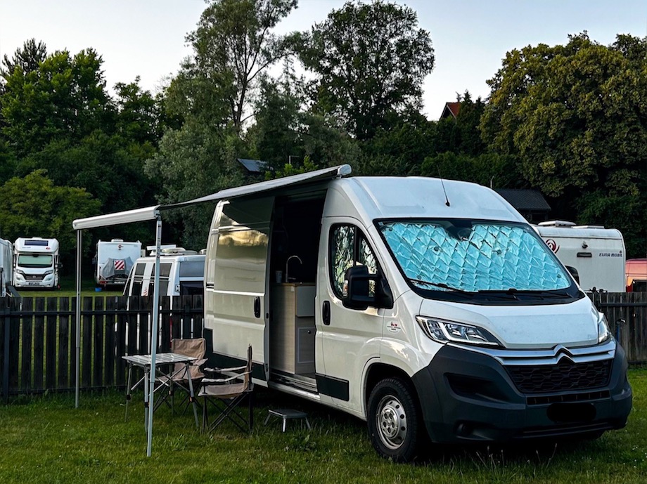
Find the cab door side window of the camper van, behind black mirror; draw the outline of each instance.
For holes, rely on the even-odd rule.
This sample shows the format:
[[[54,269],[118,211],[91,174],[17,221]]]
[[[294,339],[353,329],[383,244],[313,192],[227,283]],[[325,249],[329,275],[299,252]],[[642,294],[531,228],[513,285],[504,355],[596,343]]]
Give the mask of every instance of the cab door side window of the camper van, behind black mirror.
[[[334,225],[330,239],[330,273],[335,295],[340,299],[346,270],[352,266],[366,266],[370,274],[378,273],[378,262],[373,249],[359,228],[353,225]],[[372,282],[372,281],[371,281]],[[369,289],[375,294],[374,283]]]

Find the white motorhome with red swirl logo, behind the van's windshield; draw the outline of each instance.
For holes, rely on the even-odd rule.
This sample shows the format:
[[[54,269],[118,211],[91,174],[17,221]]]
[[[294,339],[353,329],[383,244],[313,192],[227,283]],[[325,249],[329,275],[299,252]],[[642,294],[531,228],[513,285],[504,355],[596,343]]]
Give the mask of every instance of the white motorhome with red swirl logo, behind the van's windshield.
[[[625,291],[627,253],[620,230],[559,220],[541,222],[533,228],[564,266],[577,270],[584,291]]]

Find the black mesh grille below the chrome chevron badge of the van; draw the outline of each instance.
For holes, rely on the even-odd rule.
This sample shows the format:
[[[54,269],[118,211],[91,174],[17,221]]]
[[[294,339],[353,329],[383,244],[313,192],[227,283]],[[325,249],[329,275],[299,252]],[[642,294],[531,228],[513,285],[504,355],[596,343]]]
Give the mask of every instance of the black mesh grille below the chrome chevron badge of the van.
[[[580,391],[608,384],[612,360],[574,363],[562,358],[557,365],[506,366],[521,393]]]

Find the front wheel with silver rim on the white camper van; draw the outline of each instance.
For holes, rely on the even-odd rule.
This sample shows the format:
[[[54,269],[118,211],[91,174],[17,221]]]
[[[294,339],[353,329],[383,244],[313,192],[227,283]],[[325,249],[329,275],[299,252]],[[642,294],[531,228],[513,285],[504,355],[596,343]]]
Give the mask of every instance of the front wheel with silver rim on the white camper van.
[[[411,462],[421,441],[420,411],[414,391],[402,379],[387,378],[369,397],[369,436],[382,457]]]

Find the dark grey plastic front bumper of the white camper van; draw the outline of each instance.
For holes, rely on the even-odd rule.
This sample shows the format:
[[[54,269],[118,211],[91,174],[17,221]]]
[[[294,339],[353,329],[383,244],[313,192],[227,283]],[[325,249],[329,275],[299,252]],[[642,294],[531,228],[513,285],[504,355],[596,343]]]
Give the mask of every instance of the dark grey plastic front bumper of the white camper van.
[[[522,393],[491,356],[449,345],[413,381],[429,436],[439,443],[599,433],[624,427],[632,408],[620,345],[606,384],[594,388]]]

